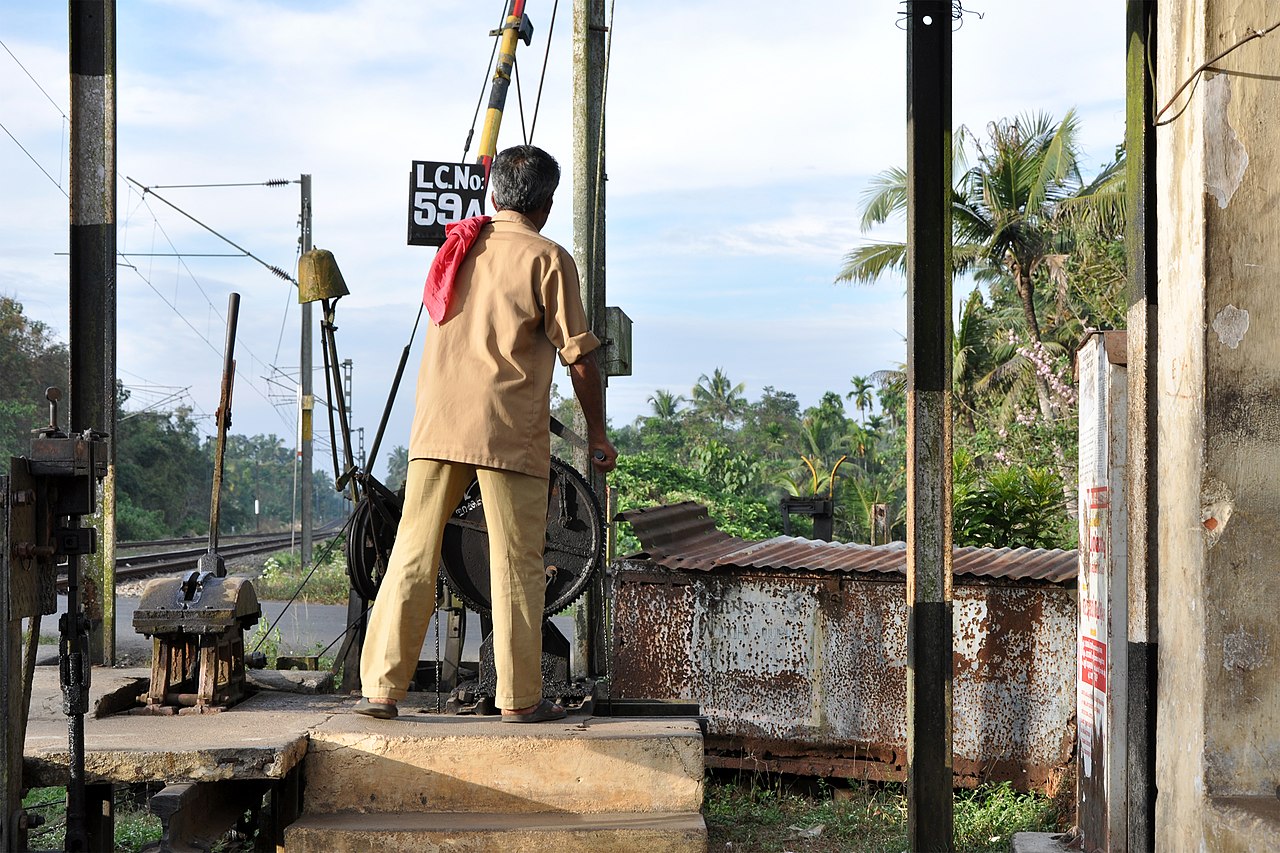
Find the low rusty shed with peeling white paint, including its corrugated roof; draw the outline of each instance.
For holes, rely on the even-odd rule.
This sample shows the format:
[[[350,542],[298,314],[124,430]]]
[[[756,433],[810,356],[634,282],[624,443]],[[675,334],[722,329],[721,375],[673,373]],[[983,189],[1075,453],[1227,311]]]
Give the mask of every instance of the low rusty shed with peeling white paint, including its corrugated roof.
[[[634,510],[613,571],[613,695],[696,701],[708,766],[900,780],[906,547],[717,530]],[[1075,739],[1075,551],[956,548],[957,785],[1055,792]]]

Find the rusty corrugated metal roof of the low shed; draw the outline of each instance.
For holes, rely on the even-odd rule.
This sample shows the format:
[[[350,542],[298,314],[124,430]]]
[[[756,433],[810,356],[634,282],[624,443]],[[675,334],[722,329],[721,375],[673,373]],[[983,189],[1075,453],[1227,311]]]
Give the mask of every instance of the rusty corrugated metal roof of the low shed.
[[[799,537],[774,537],[751,542],[718,530],[707,507],[686,501],[669,506],[628,510],[618,515],[628,521],[648,557],[667,569],[709,571],[721,566],[739,569],[792,569],[808,571],[877,571],[906,574],[906,543],[883,546],[820,542]],[[955,548],[951,569],[957,575],[1021,580],[1074,580],[1078,551],[1038,548]]]

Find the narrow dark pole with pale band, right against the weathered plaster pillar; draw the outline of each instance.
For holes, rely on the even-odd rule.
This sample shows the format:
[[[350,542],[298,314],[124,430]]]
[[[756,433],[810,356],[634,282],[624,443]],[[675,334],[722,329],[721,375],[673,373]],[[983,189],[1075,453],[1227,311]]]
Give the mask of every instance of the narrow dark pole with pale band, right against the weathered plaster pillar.
[[[1156,0],[1129,0],[1125,158],[1129,215],[1129,643],[1125,731],[1125,825],[1132,853],[1156,849],[1156,662],[1160,599],[1156,283]]]

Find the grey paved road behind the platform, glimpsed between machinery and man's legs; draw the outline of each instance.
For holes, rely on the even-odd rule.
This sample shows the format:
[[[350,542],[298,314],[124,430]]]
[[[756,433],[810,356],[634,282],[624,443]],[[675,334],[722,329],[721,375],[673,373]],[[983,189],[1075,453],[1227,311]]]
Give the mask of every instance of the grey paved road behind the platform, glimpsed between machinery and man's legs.
[[[145,657],[150,660],[151,640],[133,630],[133,611],[137,610],[138,599],[129,597],[116,598],[116,654],[131,657]],[[262,619],[268,625],[274,624],[274,630],[280,631],[280,652],[285,654],[315,654],[317,649],[333,643],[325,654],[335,654],[342,644],[342,633],[347,628],[347,608],[340,605],[303,605],[294,602],[284,616],[284,602],[261,602]],[[67,611],[67,597],[58,597],[58,615]],[[553,616],[552,620],[561,633],[570,639],[571,648],[573,640],[573,619],[571,616]],[[257,629],[250,629],[246,639],[252,637]],[[41,622],[41,635],[50,637],[58,633],[58,616],[46,616]],[[467,661],[477,660],[480,654],[480,617],[467,612],[467,637],[462,648],[462,658]],[[337,642],[335,642],[337,640]],[[440,644],[444,644],[444,634],[440,635]],[[56,648],[52,649],[56,656]],[[41,654],[41,661],[47,658],[47,653]],[[435,660],[435,617],[426,629],[426,640],[422,643],[422,660]]]

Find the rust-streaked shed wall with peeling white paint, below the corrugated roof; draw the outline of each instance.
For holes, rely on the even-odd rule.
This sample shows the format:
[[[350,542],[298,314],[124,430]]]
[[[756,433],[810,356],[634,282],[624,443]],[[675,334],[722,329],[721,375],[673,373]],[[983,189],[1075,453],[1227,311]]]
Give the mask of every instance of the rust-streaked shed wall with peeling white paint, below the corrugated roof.
[[[1071,584],[956,579],[959,783],[1046,788],[1061,777],[1074,740],[1075,617]],[[614,695],[699,702],[709,748],[803,756],[804,766],[860,761],[874,777],[901,777],[901,578],[625,562],[613,624]]]

